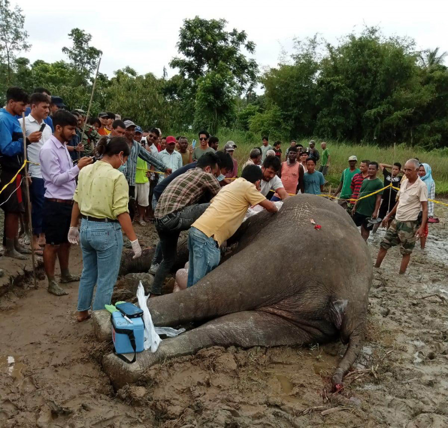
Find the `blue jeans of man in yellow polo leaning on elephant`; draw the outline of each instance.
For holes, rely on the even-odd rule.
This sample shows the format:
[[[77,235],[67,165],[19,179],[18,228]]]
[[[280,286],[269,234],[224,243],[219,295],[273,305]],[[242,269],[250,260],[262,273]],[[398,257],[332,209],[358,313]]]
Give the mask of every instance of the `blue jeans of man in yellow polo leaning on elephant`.
[[[192,227],[188,234],[188,251],[187,287],[191,287],[220,264],[221,251],[213,237],[209,238],[196,227]]]

